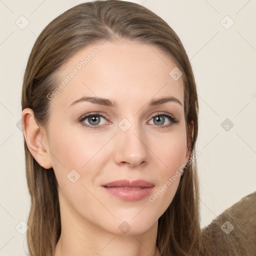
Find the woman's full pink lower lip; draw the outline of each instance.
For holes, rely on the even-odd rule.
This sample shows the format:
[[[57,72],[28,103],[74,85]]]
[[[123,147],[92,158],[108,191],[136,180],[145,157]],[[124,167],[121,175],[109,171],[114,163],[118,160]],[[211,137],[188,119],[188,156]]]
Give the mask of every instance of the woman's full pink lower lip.
[[[102,186],[108,193],[119,197],[125,201],[138,201],[149,195],[153,189],[151,187],[143,187],[143,188],[121,188],[121,187],[106,187]]]

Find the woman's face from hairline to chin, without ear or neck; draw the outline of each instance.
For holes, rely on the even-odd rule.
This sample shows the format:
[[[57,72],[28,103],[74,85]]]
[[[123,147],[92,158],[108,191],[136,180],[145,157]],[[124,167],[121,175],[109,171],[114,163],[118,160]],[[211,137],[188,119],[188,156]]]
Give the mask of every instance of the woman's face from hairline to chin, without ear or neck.
[[[152,45],[101,44],[74,55],[60,72],[62,86],[47,95],[61,215],[111,233],[142,233],[170,204],[189,158],[182,76]],[[174,100],[152,103],[164,97]],[[145,183],[103,186],[118,180]]]

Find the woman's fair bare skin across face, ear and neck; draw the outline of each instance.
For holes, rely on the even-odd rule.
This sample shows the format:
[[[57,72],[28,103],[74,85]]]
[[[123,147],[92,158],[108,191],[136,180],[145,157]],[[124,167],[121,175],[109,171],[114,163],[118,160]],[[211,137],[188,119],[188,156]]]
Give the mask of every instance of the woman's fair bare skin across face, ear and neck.
[[[61,69],[60,82],[98,49],[49,100],[47,129],[37,126],[32,109],[22,111],[29,151],[41,166],[53,168],[58,182],[61,235],[54,256],[159,256],[157,220],[170,204],[180,176],[153,202],[148,198],[189,159],[182,77],[174,80],[169,75],[175,63],[152,45],[127,41],[101,44],[86,46]],[[107,98],[117,107],[88,101],[70,105],[82,96]],[[175,97],[181,104],[168,101],[148,106],[150,100],[165,96]],[[104,114],[94,125],[100,128],[78,122],[79,117],[95,111]],[[158,114],[163,120],[159,122],[153,118],[159,112],[171,114],[178,122]],[[131,124],[126,131],[118,126],[123,118]],[[93,121],[86,118],[83,123],[93,126]],[[192,128],[191,123],[190,133]],[[67,178],[72,169],[80,175],[75,182]],[[127,201],[101,186],[118,179],[144,179],[154,187],[148,196]],[[123,221],[130,227],[126,233],[118,228]]]

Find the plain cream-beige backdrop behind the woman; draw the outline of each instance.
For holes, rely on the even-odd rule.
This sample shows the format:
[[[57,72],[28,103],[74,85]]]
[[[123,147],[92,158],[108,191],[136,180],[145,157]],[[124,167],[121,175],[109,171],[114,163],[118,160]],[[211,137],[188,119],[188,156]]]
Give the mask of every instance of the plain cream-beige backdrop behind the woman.
[[[36,36],[81,0],[0,0],[0,256],[25,255],[29,211],[21,118],[21,85]],[[256,1],[134,0],[161,16],[180,37],[199,96],[197,150],[201,226],[255,190]],[[24,16],[29,24],[20,29]],[[226,16],[229,17],[226,17]],[[222,20],[222,21],[221,21]],[[229,26],[234,24],[229,28]],[[228,28],[228,29],[227,29]],[[228,118],[234,126],[226,131]],[[230,127],[230,126],[229,126]],[[18,228],[17,228],[18,229]]]

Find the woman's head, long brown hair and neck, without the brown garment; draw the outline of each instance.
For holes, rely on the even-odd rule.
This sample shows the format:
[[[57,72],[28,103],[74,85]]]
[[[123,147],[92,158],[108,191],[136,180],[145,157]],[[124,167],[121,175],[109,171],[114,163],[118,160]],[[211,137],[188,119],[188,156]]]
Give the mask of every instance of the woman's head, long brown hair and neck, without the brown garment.
[[[30,255],[202,254],[196,85],[165,21],[72,7],[36,39],[21,102]]]

